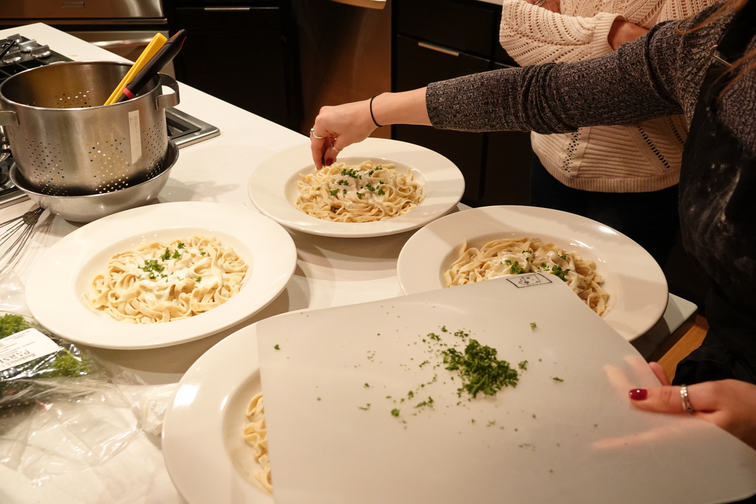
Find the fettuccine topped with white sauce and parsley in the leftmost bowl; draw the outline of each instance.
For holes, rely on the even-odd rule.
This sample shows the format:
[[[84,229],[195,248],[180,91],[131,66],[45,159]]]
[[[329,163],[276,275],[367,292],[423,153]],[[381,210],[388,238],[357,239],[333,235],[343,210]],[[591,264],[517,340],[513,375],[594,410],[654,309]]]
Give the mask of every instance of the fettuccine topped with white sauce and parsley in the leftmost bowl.
[[[231,247],[194,235],[143,243],[113,255],[92,281],[88,301],[125,323],[181,320],[212,310],[239,293],[247,266]]]

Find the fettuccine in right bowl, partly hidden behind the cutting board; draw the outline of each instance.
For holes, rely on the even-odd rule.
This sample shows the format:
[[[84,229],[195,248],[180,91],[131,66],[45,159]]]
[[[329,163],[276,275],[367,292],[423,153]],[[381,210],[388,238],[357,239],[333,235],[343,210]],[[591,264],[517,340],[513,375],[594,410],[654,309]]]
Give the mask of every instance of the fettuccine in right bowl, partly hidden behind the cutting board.
[[[603,278],[596,263],[584,261],[578,252],[565,252],[540,238],[494,240],[480,249],[462,244],[460,257],[444,274],[447,287],[482,282],[522,273],[548,273],[569,285],[586,305],[600,316],[609,313],[609,294],[601,288]]]

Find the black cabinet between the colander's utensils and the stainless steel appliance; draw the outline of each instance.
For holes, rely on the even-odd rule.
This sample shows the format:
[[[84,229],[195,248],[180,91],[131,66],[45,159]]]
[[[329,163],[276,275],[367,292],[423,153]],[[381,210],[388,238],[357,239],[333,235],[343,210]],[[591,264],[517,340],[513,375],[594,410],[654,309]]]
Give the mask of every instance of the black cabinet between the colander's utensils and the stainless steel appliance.
[[[187,29],[178,80],[299,129],[299,60],[287,2],[174,2],[172,30]]]

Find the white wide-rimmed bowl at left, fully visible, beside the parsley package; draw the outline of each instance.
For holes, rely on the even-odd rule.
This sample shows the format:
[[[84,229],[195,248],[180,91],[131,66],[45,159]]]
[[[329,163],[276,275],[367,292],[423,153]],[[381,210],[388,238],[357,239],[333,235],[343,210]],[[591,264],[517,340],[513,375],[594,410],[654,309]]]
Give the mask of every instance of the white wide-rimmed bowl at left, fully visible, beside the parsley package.
[[[242,286],[224,304],[182,320],[133,324],[91,308],[85,294],[113,255],[144,242],[200,234],[217,238],[247,264]],[[265,308],[296,268],[289,233],[264,215],[218,203],[143,206],[86,224],[55,243],[29,275],[26,301],[34,317],[57,335],[98,348],[157,348],[228,329]]]

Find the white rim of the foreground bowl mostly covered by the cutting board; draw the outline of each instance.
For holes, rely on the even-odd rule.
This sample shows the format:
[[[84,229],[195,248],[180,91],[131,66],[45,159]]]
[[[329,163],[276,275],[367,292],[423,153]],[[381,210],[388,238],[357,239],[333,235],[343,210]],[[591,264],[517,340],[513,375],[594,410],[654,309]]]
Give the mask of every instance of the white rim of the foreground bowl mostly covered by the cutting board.
[[[163,459],[190,504],[240,502],[239,493],[241,502],[272,504],[239,474],[223,439],[229,398],[259,370],[255,323],[216,343],[178,382],[163,422]]]

